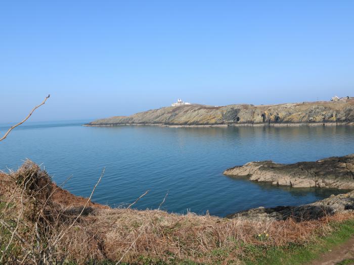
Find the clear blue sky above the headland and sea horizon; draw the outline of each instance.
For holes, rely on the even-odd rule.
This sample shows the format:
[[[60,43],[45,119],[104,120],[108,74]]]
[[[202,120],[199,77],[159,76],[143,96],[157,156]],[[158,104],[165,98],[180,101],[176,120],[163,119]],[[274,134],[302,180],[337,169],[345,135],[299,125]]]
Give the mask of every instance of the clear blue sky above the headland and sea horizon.
[[[354,1],[3,1],[0,123],[354,96]]]

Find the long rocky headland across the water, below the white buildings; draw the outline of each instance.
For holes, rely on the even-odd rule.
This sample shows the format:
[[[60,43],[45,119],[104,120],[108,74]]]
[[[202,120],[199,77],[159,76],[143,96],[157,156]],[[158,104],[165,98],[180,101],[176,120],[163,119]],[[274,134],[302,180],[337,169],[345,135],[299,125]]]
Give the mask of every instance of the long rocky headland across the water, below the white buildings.
[[[150,110],[131,116],[100,119],[88,125],[280,125],[322,123],[354,124],[354,99],[258,106],[238,104],[211,107],[191,104]]]

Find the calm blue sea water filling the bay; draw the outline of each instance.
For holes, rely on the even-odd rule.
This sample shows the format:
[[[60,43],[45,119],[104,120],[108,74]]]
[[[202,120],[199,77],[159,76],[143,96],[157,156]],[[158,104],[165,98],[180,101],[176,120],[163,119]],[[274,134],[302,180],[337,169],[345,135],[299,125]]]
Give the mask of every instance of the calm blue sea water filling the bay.
[[[314,161],[354,152],[354,127],[159,128],[83,127],[79,122],[27,123],[0,142],[0,169],[30,158],[70,192],[89,196],[102,168],[94,201],[119,206],[150,192],[136,207],[225,216],[265,206],[308,203],[338,193],[275,187],[231,179],[225,169],[249,161]],[[9,125],[0,125],[0,134]]]

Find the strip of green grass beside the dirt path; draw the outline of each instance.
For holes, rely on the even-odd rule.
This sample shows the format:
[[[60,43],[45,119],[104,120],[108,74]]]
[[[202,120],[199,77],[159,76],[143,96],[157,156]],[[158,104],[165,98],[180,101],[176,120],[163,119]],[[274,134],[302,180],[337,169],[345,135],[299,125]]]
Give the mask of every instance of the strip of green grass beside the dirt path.
[[[243,261],[246,264],[306,264],[318,258],[322,253],[328,252],[331,248],[344,243],[354,235],[354,220],[347,220],[341,224],[332,224],[334,231],[326,237],[318,237],[315,243],[307,245],[289,244],[286,247],[249,247]],[[346,262],[346,261],[343,261]],[[349,262],[349,261],[347,261]],[[350,263],[339,263],[350,264]]]

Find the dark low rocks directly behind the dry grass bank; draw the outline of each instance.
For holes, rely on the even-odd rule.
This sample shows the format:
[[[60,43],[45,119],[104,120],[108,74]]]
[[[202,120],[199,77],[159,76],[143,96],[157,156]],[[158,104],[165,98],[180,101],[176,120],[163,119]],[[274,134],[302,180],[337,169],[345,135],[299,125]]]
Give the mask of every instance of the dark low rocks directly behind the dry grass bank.
[[[325,216],[344,211],[354,211],[354,191],[300,206],[277,206],[274,208],[253,208],[228,215],[227,218],[245,218],[250,220],[286,220],[293,218],[297,222],[317,220]]]

